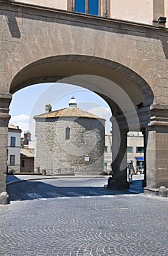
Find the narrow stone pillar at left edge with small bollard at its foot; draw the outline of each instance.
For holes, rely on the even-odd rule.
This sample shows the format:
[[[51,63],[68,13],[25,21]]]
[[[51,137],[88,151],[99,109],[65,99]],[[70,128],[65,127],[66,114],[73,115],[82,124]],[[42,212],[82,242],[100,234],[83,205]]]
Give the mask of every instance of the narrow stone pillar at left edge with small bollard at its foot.
[[[7,179],[7,134],[9,121],[9,104],[12,95],[0,93],[0,204],[8,202],[6,193]]]

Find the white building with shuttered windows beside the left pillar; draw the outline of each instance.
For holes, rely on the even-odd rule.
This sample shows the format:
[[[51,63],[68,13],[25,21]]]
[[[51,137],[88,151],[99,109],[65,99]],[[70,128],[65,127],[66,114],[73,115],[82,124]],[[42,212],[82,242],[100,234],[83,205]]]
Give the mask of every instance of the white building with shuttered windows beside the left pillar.
[[[7,173],[20,173],[20,136],[22,130],[13,124],[8,125]]]

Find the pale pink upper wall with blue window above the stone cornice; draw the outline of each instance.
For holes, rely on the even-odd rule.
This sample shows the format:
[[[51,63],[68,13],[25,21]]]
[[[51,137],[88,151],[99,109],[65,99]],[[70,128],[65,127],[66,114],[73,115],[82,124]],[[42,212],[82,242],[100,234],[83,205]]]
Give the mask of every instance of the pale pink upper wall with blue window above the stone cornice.
[[[155,26],[158,26],[160,16],[168,16],[168,0],[20,0],[20,2]]]

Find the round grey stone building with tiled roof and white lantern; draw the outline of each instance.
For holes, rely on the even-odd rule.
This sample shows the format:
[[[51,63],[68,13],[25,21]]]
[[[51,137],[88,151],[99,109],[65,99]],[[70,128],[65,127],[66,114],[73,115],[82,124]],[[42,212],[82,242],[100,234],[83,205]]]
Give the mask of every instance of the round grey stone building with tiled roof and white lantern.
[[[74,97],[68,108],[45,110],[34,116],[36,167],[47,175],[103,173],[105,119],[77,108]]]

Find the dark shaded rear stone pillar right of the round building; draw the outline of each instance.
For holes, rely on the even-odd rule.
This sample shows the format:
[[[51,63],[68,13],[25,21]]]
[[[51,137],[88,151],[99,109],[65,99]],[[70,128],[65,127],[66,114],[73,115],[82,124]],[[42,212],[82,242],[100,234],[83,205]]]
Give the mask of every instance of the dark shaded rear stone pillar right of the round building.
[[[121,129],[112,118],[112,178],[108,188],[127,189],[127,129]]]

